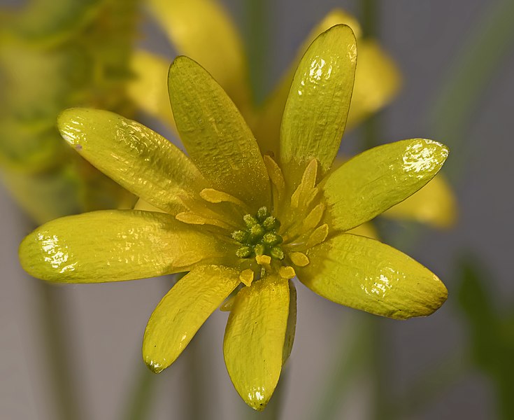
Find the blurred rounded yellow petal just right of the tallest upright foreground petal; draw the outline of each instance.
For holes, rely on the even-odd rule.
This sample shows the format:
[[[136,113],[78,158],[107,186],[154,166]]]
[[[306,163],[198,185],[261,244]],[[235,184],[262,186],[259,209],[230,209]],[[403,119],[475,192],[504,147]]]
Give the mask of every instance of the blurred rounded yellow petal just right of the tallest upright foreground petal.
[[[400,73],[392,58],[369,40],[359,40],[359,59],[355,71],[352,104],[347,128],[383,108],[400,88]]]

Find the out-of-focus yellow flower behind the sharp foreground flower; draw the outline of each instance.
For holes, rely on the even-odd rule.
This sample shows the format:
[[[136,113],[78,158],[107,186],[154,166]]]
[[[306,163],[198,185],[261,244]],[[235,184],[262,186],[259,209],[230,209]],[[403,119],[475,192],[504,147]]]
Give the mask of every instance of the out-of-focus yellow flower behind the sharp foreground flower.
[[[294,71],[308,45],[329,27],[348,25],[357,36],[359,45],[359,63],[347,130],[383,108],[400,87],[399,71],[391,57],[375,41],[360,38],[359,22],[352,15],[334,9],[307,36],[294,63],[264,105],[256,107],[250,99],[243,43],[234,23],[216,1],[149,0],[148,6],[174,48],[204,66],[224,88],[255,134],[262,154],[274,153],[278,156],[280,121]],[[132,101],[146,113],[174,127],[164,83],[169,59],[139,50],[134,53],[132,67],[136,75],[129,84]],[[455,222],[456,209],[455,197],[448,183],[438,175],[420,193],[394,206],[383,216],[448,228]],[[359,235],[376,237],[371,225],[363,225],[357,232]]]

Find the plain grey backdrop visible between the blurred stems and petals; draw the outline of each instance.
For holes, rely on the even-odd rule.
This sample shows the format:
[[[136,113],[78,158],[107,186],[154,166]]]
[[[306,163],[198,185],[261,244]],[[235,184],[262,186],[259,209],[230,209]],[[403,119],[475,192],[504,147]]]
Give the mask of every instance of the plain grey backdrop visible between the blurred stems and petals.
[[[239,1],[225,1],[241,18]],[[487,13],[484,0],[382,1],[383,45],[404,73],[404,88],[385,111],[383,141],[411,137],[433,138],[427,111],[441,89],[441,80],[455,55]],[[269,80],[276,80],[293,59],[308,31],[332,7],[357,10],[357,1],[280,0],[273,2]],[[514,17],[513,17],[514,20]],[[241,19],[238,20],[241,22]],[[155,36],[157,41],[162,41]],[[145,42],[148,42],[145,41]],[[491,48],[495,48],[491,45]],[[459,223],[450,232],[429,232],[410,254],[430,267],[448,286],[450,297],[442,309],[426,319],[383,320],[391,346],[384,350],[395,392],[438,363],[443,356],[466,346],[466,332],[457,316],[456,279],[452,269],[462,248],[478,252],[490,266],[490,282],[499,305],[514,302],[511,277],[514,210],[511,180],[514,153],[512,97],[514,53],[511,51],[490,80],[478,109],[466,128],[462,148],[465,171],[456,188]],[[354,134],[355,136],[355,134]],[[350,142],[351,142],[350,136]],[[451,143],[451,139],[436,138]],[[451,159],[451,158],[450,158]],[[38,319],[38,287],[24,276],[17,262],[17,244],[28,232],[25,221],[5,190],[0,190],[0,416],[3,419],[54,419],[55,407],[45,377],[48,366]],[[298,324],[285,380],[283,419],[308,419],[323,378],[334,369],[338,343],[352,335],[362,315],[317,297],[297,286]],[[166,290],[166,281],[152,279],[102,285],[64,286],[69,349],[80,379],[85,419],[115,419],[124,405],[131,378],[141,370],[141,338],[145,324]],[[227,314],[216,312],[201,330],[202,368],[206,372],[203,401],[206,419],[239,419],[245,412],[223,365],[222,337]],[[180,389],[190,379],[187,358],[157,377],[152,419],[182,419],[185,403]],[[341,411],[347,419],[366,419],[369,379],[352,384],[351,402]],[[5,410],[5,411],[4,411]],[[494,394],[486,379],[469,372],[416,419],[491,419]]]

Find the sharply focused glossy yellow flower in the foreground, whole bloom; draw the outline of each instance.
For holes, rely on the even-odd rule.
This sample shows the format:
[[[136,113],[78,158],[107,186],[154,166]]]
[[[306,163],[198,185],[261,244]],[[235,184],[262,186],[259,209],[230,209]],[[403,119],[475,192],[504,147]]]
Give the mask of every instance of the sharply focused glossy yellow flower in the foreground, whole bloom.
[[[108,111],[65,111],[64,139],[155,211],[97,211],[47,223],[22,241],[22,266],[64,283],[188,272],[148,321],[145,363],[154,372],[171,365],[224,304],[224,360],[239,395],[255,409],[266,406],[290,354],[295,277],[322,297],[372,314],[431,314],[447,297],[434,274],[347,231],[422,188],[448,149],[404,140],[332,168],[356,61],[348,26],[315,39],[294,75],[274,157],[260,153],[220,85],[183,56],[169,69],[169,95],[189,157]]]

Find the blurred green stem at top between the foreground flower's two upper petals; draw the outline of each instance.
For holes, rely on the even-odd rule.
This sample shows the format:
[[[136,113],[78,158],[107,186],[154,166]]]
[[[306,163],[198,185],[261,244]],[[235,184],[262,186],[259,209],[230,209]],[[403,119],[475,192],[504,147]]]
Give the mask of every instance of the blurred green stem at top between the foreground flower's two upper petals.
[[[246,45],[248,46],[248,62],[250,85],[253,102],[261,104],[266,97],[266,71],[269,66],[269,37],[268,22],[269,0],[245,1]]]

